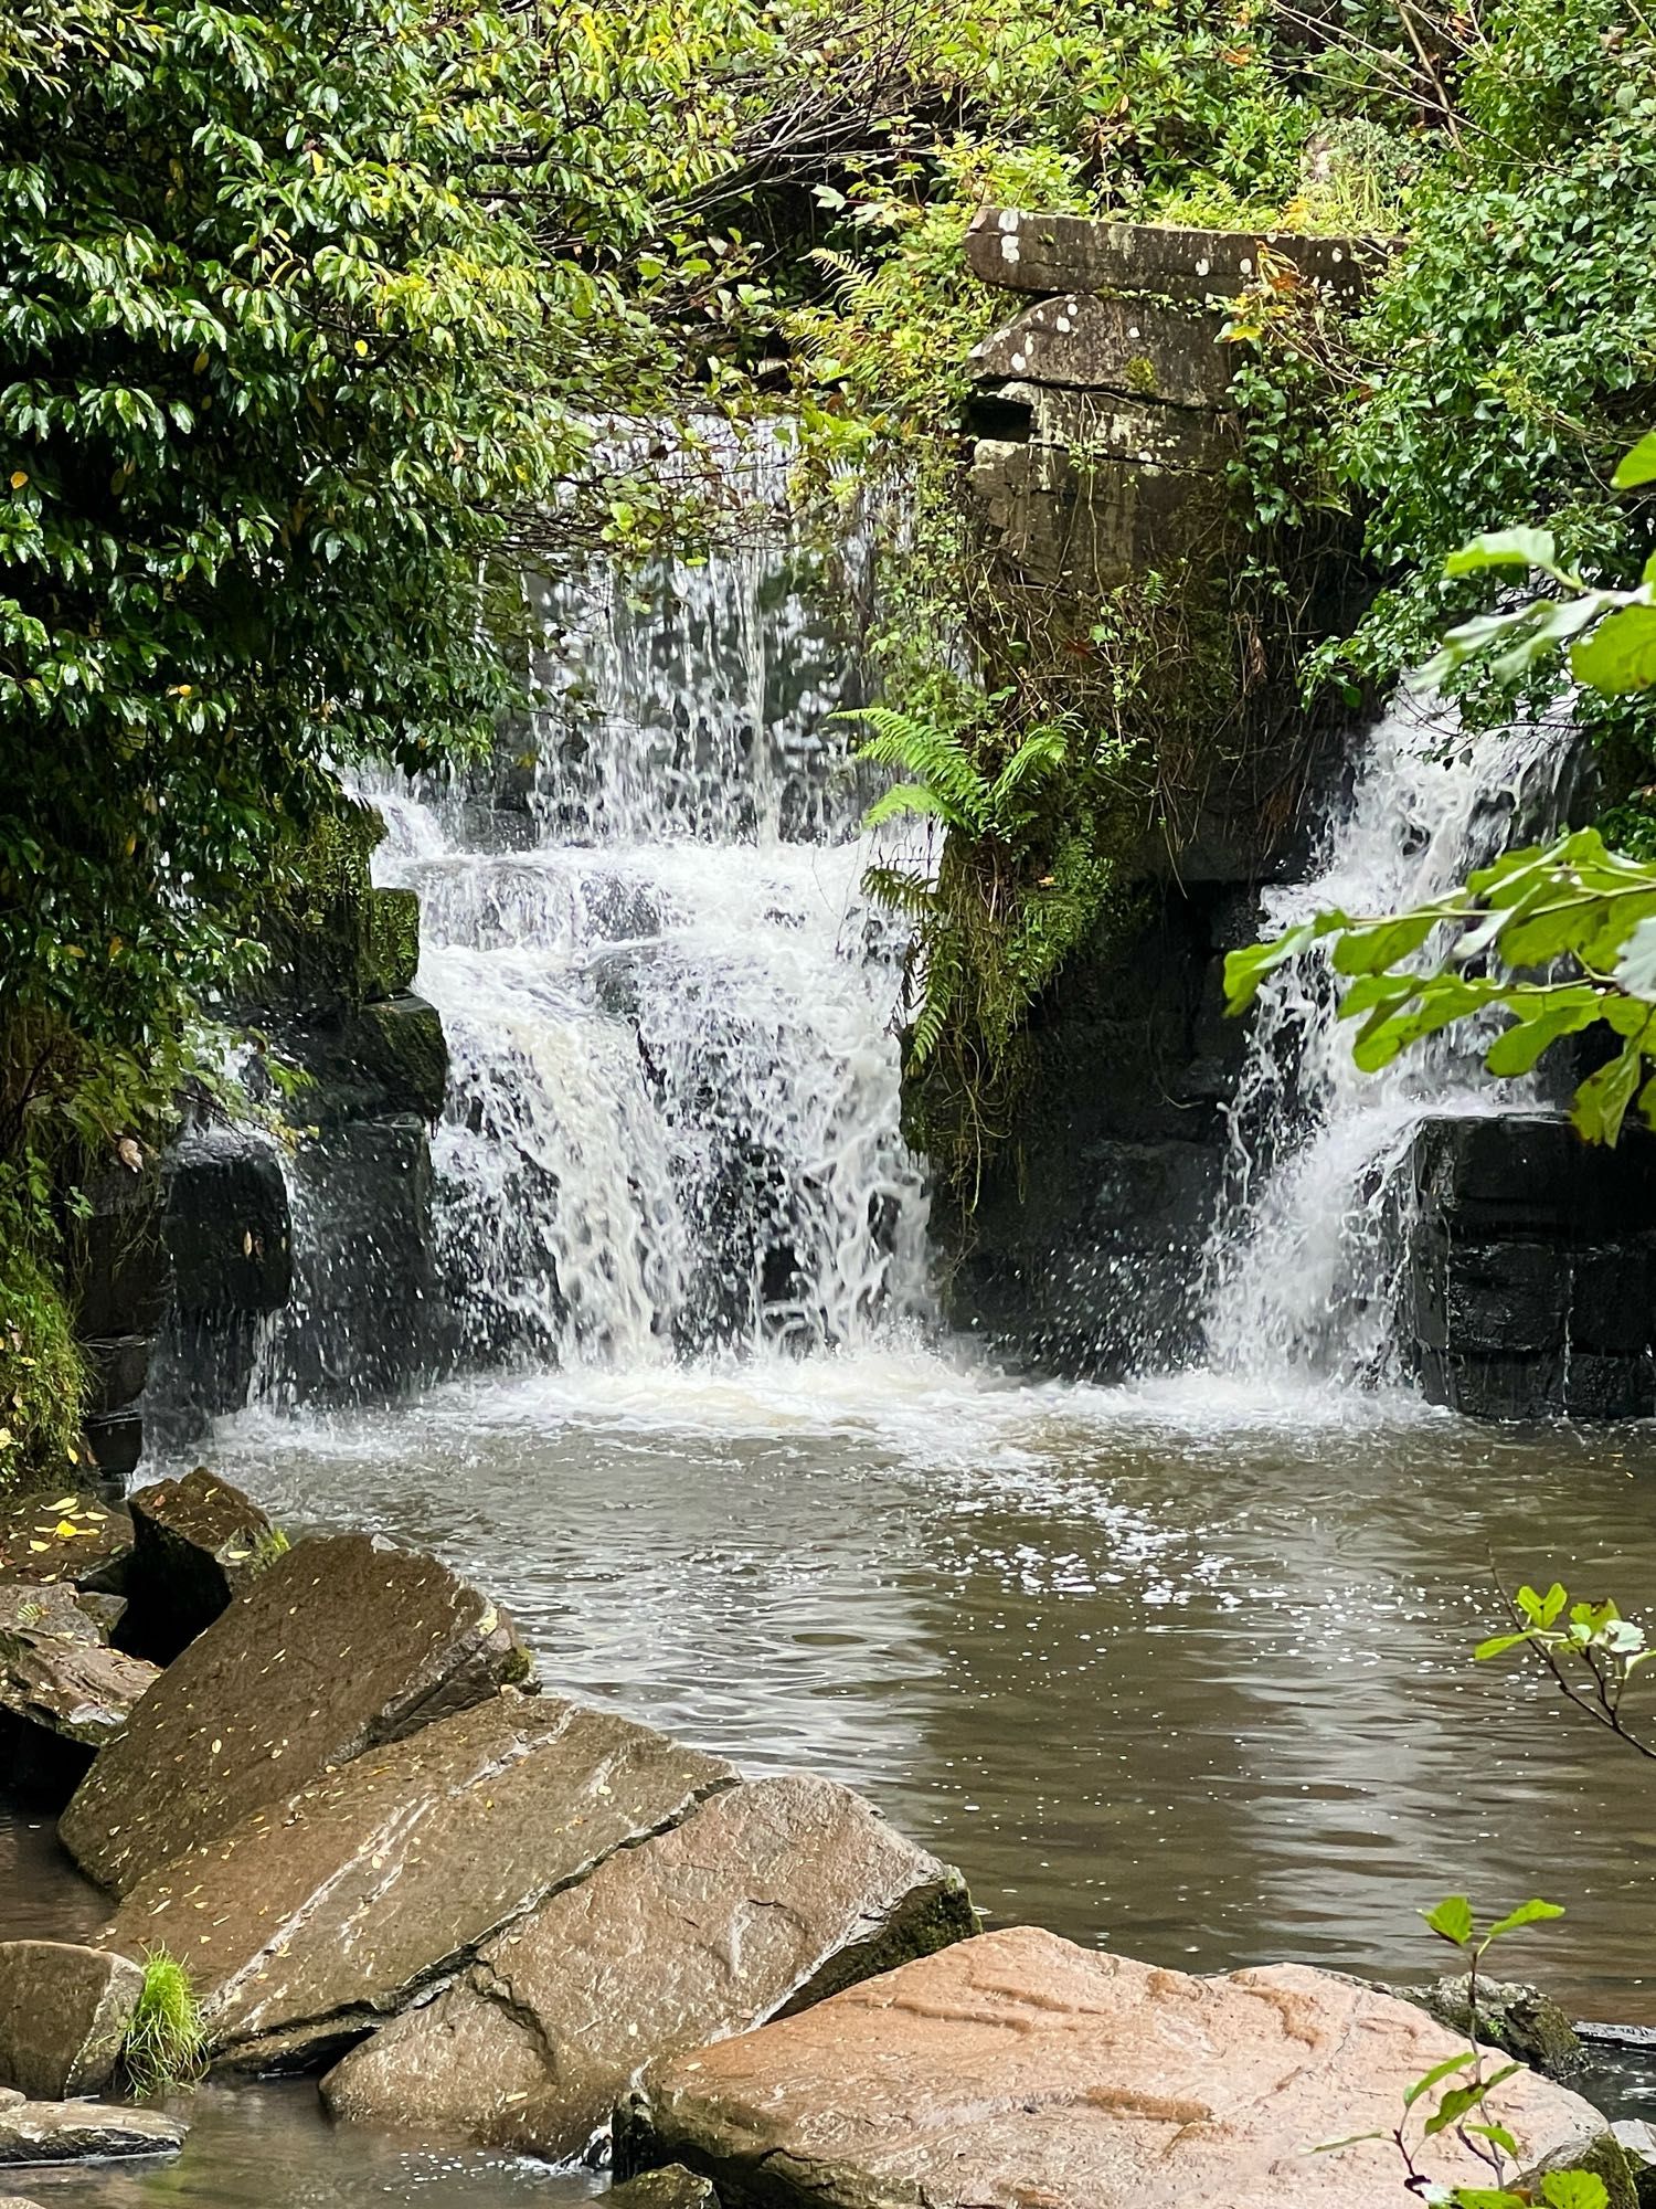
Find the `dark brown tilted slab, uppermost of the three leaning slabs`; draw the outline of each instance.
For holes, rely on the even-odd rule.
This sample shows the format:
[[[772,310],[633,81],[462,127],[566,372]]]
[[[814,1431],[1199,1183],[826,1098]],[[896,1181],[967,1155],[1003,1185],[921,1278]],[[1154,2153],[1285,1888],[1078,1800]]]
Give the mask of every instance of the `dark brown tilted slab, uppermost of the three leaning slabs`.
[[[495,1604],[369,1535],[300,1542],[168,1666],[86,1774],[60,1833],[126,1893],[333,1765],[528,1672]]]

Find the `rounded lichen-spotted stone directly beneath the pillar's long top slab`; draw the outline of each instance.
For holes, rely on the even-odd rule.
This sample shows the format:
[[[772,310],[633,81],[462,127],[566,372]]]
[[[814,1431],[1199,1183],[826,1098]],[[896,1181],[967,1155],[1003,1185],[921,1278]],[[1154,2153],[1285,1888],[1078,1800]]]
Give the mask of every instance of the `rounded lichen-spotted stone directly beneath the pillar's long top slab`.
[[[1223,318],[1155,298],[1064,292],[1029,307],[972,351],[978,382],[1027,378],[1078,391],[1113,391],[1168,406],[1225,404],[1234,347],[1219,342]]]

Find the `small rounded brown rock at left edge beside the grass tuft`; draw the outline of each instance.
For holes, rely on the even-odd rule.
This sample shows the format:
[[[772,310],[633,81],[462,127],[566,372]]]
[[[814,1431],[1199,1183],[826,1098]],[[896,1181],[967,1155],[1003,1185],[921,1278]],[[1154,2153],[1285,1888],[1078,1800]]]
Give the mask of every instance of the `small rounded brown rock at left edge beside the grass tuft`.
[[[141,1988],[144,1973],[124,1955],[57,1940],[0,1942],[0,2085],[31,2101],[102,2094]]]

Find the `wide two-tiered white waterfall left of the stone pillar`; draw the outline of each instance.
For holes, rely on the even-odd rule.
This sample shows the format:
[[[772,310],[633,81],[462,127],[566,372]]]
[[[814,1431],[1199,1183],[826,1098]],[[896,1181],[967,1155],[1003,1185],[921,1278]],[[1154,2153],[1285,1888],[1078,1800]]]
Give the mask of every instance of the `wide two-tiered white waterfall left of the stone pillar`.
[[[784,455],[757,455],[773,490]],[[773,508],[779,506],[773,499]],[[488,791],[373,791],[453,1071],[437,1239],[461,1359],[854,1341],[923,1299],[899,932],[859,892],[846,603],[775,521],[537,583],[548,698]]]

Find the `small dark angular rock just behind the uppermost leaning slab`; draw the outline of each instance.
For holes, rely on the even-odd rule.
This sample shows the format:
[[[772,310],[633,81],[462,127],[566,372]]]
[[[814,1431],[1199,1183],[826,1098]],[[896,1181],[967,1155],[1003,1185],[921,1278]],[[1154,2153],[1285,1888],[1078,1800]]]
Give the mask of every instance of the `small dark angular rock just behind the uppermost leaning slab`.
[[[172,1663],[287,1549],[258,1504],[205,1465],[137,1489],[130,1509],[121,1639],[155,1663]]]

